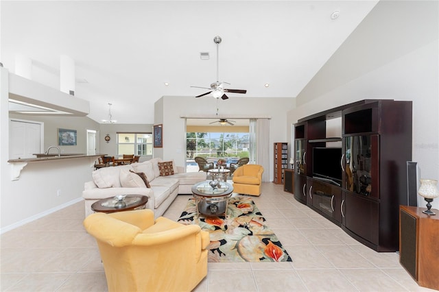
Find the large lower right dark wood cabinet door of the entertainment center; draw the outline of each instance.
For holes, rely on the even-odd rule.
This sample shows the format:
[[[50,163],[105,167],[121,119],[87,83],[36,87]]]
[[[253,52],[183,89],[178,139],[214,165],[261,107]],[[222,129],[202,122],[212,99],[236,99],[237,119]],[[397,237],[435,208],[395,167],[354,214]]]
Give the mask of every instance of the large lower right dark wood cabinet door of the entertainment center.
[[[343,225],[374,245],[379,244],[379,203],[343,191]]]

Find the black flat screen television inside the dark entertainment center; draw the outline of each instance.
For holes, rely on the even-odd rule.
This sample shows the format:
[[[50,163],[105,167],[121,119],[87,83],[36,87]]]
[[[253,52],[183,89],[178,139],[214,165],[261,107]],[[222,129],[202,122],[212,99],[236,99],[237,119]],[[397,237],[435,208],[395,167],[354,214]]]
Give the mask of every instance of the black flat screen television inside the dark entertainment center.
[[[342,148],[314,147],[313,148],[313,178],[342,184]]]

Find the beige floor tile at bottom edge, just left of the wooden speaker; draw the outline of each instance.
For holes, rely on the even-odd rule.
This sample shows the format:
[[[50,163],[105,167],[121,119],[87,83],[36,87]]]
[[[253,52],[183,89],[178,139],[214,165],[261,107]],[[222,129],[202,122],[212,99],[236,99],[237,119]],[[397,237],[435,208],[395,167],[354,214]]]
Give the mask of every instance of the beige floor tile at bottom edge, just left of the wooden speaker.
[[[407,291],[380,269],[341,269],[340,272],[359,291]]]

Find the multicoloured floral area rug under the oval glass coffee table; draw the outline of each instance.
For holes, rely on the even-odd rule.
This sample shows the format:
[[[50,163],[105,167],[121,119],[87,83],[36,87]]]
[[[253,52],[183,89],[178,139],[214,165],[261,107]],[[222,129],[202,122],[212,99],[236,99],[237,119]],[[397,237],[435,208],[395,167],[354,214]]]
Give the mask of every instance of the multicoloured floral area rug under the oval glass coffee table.
[[[247,197],[228,200],[227,218],[200,215],[195,199],[189,199],[179,223],[198,224],[210,233],[209,262],[291,262],[276,234],[265,225],[265,218]]]

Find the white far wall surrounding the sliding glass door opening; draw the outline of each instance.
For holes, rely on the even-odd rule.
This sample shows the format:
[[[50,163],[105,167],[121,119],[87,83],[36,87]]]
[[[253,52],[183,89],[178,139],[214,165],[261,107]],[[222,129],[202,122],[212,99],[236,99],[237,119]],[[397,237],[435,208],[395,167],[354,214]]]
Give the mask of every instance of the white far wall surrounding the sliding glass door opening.
[[[155,123],[163,123],[163,156],[165,160],[174,159],[177,165],[185,165],[186,157],[186,129],[185,119],[181,117],[226,117],[239,119],[250,117],[270,117],[270,145],[275,142],[287,142],[287,111],[293,106],[292,98],[252,98],[230,97],[229,99],[217,100],[211,96],[204,98],[195,97],[162,97],[155,112]],[[217,107],[218,106],[218,107]],[[216,115],[217,108],[219,116]],[[154,149],[154,152],[156,152]],[[273,147],[270,147],[270,180],[273,180]]]

